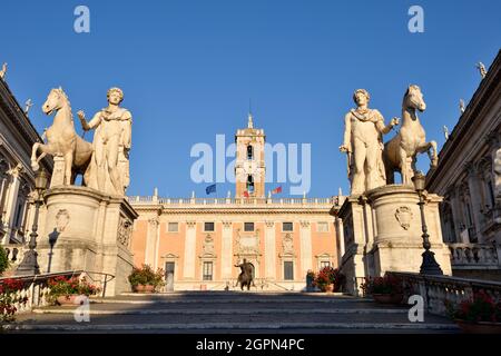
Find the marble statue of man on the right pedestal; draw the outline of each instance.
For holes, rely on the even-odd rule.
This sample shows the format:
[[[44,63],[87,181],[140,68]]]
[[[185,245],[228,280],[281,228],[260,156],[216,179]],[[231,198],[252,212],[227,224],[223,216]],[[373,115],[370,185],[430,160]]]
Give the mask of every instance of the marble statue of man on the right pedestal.
[[[399,125],[399,119],[393,118],[385,126],[381,112],[369,108],[370,99],[365,89],[355,90],[353,100],[357,108],[350,110],[344,118],[344,142],[340,150],[348,155],[351,195],[361,195],[386,184],[383,135]]]

